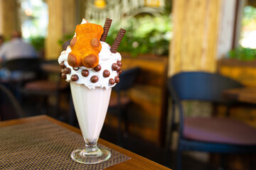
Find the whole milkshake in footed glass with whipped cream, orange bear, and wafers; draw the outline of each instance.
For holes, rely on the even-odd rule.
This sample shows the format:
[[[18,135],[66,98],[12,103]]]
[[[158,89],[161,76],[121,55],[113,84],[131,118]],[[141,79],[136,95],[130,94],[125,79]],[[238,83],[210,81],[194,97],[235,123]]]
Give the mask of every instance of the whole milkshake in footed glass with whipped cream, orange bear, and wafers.
[[[70,82],[70,89],[85,147],[71,153],[72,159],[84,164],[96,164],[110,158],[110,152],[97,147],[105,120],[111,89],[119,82],[121,55],[117,47],[125,30],[120,29],[112,46],[105,42],[112,20],[105,26],[85,19],[75,28],[70,45],[61,52],[58,62],[61,77]]]

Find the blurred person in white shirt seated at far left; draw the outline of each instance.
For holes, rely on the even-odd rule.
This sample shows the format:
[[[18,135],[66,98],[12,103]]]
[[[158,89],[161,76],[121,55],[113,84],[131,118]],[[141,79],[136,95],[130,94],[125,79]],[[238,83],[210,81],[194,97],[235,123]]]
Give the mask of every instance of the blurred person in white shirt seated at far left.
[[[0,47],[0,63],[17,58],[38,57],[32,45],[23,41],[21,33],[14,31],[11,33],[11,40]]]

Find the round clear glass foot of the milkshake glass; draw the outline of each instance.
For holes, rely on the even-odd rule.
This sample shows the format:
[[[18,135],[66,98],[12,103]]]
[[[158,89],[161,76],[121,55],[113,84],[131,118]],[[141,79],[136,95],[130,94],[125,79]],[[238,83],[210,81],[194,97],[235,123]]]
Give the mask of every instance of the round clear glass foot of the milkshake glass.
[[[97,148],[95,152],[87,152],[85,148],[80,148],[75,149],[70,156],[75,162],[82,164],[97,164],[110,159],[111,153],[102,147]]]

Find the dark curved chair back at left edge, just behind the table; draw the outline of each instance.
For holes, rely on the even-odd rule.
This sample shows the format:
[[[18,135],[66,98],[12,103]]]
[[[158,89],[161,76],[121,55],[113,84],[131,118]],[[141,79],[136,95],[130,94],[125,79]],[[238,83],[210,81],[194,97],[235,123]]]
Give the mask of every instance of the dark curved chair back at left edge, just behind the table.
[[[26,117],[26,114],[15,98],[3,84],[0,84],[0,120]]]

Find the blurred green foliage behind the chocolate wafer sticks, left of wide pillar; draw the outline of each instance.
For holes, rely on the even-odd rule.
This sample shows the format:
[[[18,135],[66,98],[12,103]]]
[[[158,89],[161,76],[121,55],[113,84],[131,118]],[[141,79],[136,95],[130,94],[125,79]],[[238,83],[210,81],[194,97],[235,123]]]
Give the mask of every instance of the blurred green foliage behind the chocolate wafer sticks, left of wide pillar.
[[[129,52],[133,57],[139,54],[168,55],[172,37],[172,23],[169,16],[140,16],[129,18],[111,26],[106,42],[114,42],[119,28],[127,30],[118,52]]]

